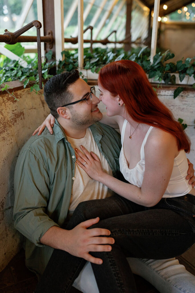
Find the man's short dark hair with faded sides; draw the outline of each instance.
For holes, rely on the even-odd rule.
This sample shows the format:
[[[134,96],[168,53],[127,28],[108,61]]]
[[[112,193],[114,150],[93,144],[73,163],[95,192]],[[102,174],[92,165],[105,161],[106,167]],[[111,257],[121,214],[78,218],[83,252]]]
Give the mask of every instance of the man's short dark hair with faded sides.
[[[79,79],[77,69],[51,77],[44,86],[44,98],[51,114],[58,118],[58,107],[71,103],[73,94],[68,91],[70,84]]]

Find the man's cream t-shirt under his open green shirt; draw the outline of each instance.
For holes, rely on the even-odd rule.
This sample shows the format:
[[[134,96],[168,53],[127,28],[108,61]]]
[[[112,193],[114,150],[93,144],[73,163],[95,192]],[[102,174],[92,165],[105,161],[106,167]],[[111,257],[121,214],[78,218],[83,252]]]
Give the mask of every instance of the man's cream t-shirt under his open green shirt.
[[[112,174],[111,167],[106,158],[99,151],[98,145],[95,142],[90,128],[87,128],[86,134],[83,138],[76,139],[67,136],[68,141],[73,149],[80,149],[83,145],[89,152],[93,151],[100,159],[103,171]],[[81,150],[81,149],[80,149]],[[87,173],[75,163],[75,180],[73,182],[72,194],[70,198],[69,212],[72,214],[77,205],[85,200],[94,200],[109,197],[113,192],[102,183],[90,178]]]

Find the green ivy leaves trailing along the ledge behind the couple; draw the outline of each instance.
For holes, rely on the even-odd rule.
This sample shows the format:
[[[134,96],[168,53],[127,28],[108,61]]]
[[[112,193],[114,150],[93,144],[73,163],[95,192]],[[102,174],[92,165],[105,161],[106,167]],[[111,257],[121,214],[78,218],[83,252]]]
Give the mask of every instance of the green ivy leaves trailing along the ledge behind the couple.
[[[1,87],[5,88],[4,82],[8,80],[20,80],[24,83],[24,88],[29,85],[31,91],[38,91],[38,61],[37,57],[31,59],[29,56],[24,57],[24,48],[20,44],[6,45],[6,47],[24,58],[28,63],[27,68],[23,68],[18,61],[12,61],[8,58],[0,60],[0,70],[2,76],[0,77],[3,83]],[[63,51],[62,56],[64,60],[58,64],[57,74],[63,71],[71,71],[78,68],[78,51]],[[90,69],[92,72],[98,73],[100,68],[105,64],[112,61],[128,59],[137,62],[148,74],[149,78],[154,78],[155,81],[162,81],[165,84],[175,84],[175,75],[173,73],[179,73],[180,81],[184,79],[186,75],[194,76],[195,78],[195,61],[192,58],[186,60],[179,60],[177,63],[169,62],[168,60],[174,57],[174,54],[166,51],[164,53],[158,52],[153,59],[153,64],[150,64],[150,50],[148,47],[132,49],[125,52],[124,49],[102,49],[94,48],[93,53],[89,48],[84,49],[84,69]],[[56,66],[56,62],[52,61],[52,51],[46,54],[47,62],[42,64],[42,78],[47,80],[52,75],[49,74],[49,69]],[[172,75],[171,75],[172,74]],[[80,73],[81,77],[86,78]],[[195,87],[195,83],[192,86]],[[176,98],[183,91],[183,87],[177,87],[174,92],[174,98]]]

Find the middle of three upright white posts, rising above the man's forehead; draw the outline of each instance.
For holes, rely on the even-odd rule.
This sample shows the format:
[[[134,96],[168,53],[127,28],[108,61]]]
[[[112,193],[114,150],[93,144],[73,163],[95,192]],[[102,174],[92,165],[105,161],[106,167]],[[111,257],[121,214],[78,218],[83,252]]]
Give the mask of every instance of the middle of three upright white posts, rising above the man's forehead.
[[[83,0],[78,0],[78,67],[81,70],[84,63],[83,54]]]

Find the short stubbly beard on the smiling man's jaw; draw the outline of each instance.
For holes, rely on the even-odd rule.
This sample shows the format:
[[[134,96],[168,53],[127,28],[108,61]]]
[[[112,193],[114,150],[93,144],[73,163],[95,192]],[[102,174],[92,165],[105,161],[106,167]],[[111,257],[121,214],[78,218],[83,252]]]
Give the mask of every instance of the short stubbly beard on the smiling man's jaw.
[[[83,128],[84,126],[89,127],[90,125],[102,119],[102,115],[99,115],[98,117],[93,115],[81,114],[75,111],[73,108],[70,108],[70,113],[72,115],[71,120],[74,126],[77,128]]]

